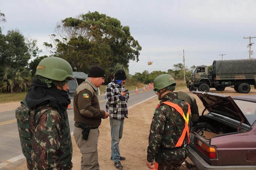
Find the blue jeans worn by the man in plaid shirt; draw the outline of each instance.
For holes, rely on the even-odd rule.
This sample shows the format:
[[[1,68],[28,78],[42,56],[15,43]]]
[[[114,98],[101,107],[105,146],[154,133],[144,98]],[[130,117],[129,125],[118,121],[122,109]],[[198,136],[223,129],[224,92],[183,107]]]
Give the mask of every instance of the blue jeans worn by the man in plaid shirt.
[[[111,127],[111,156],[114,162],[120,161],[119,142],[123,136],[123,121],[110,119]]]

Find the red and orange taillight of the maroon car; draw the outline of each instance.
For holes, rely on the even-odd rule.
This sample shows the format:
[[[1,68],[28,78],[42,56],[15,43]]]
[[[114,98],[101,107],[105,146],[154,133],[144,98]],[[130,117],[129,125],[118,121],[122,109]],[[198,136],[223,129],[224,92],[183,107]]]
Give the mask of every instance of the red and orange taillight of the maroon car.
[[[206,157],[210,159],[217,159],[217,152],[214,146],[208,146],[206,143],[203,143],[201,140],[197,139],[197,149],[201,151]]]

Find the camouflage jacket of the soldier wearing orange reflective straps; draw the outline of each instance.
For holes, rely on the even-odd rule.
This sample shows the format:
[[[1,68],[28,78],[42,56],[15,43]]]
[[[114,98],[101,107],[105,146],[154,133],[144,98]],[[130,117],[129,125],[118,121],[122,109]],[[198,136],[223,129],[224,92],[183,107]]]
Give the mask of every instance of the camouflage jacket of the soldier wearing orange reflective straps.
[[[164,95],[161,102],[173,102],[177,99],[178,93],[172,92]],[[182,108],[184,114],[187,116],[188,104],[181,100],[178,105]],[[171,113],[167,111],[164,105],[160,105],[157,109],[155,109],[149,133],[149,146],[147,151],[147,160],[149,162],[153,162],[160,150],[162,152],[161,157],[165,160],[171,160],[173,156],[175,156],[176,158],[185,157],[185,155],[187,154],[187,147],[185,149],[175,148],[175,145],[184,130],[185,120],[179,114],[179,112],[176,111],[176,109],[170,106],[169,108],[172,111]],[[176,119],[177,126],[169,114],[173,114],[174,118]],[[190,124],[191,119],[189,121],[189,127]],[[186,144],[188,144],[187,137],[185,137],[182,147]]]

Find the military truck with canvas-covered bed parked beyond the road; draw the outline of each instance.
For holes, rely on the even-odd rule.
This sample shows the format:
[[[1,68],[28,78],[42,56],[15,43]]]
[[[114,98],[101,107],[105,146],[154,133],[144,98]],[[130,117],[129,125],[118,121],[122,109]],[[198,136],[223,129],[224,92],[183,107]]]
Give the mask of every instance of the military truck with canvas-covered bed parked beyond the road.
[[[256,59],[214,60],[212,70],[206,65],[197,66],[190,80],[188,77],[186,80],[190,92],[209,92],[210,88],[223,91],[232,87],[236,92],[249,93],[250,85],[256,89]]]

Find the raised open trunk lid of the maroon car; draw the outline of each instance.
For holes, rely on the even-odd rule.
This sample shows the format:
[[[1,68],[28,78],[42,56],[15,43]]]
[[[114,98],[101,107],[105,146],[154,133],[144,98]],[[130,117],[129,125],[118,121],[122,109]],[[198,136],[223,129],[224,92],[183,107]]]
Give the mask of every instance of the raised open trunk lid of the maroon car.
[[[209,92],[193,92],[202,101],[203,105],[209,112],[221,114],[240,122],[238,129],[242,123],[251,126],[241,109],[236,105],[230,96],[220,95]]]

